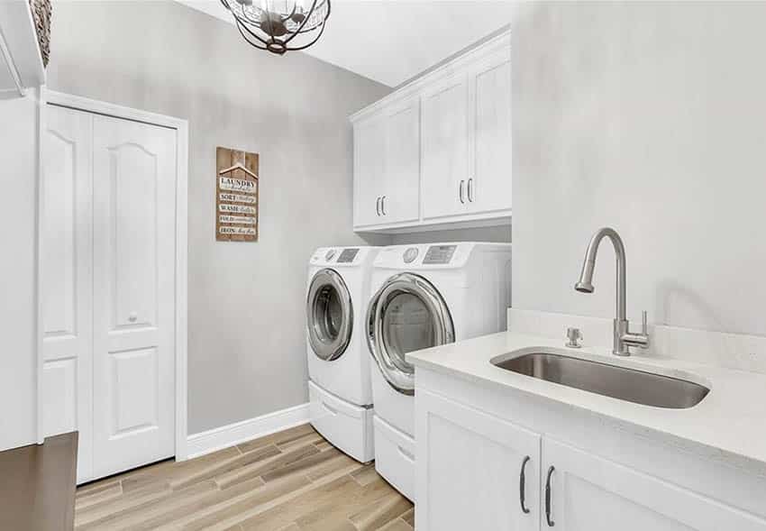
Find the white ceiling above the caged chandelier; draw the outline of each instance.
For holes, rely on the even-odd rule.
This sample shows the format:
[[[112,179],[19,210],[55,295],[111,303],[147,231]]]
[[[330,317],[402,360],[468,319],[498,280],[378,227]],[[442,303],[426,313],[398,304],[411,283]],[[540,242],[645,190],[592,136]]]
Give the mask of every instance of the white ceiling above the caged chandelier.
[[[219,0],[178,1],[232,22]],[[324,35],[305,53],[397,87],[507,25],[514,11],[511,0],[333,0]]]

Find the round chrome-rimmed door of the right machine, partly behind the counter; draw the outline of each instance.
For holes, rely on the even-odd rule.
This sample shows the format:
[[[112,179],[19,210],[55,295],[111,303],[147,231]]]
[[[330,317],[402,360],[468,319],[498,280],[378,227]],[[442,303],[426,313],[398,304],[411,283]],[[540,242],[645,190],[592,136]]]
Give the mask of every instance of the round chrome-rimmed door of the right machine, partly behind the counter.
[[[415,394],[415,367],[407,352],[455,341],[452,317],[442,295],[419,275],[399,273],[388,279],[367,309],[369,352],[388,383],[400,393]]]

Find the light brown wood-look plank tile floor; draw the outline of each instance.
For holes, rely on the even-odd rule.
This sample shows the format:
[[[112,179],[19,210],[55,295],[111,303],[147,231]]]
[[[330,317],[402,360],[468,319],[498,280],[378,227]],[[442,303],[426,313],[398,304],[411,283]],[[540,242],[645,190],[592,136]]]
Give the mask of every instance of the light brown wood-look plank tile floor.
[[[298,426],[78,488],[75,528],[412,531],[412,503],[372,464]]]

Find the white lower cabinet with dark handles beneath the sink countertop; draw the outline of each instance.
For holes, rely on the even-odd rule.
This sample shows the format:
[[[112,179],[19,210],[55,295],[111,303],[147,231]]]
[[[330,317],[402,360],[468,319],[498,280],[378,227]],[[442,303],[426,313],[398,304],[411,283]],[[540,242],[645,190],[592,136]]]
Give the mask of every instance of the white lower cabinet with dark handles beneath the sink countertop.
[[[415,389],[418,531],[766,530],[758,474],[440,378],[417,369],[429,382]]]

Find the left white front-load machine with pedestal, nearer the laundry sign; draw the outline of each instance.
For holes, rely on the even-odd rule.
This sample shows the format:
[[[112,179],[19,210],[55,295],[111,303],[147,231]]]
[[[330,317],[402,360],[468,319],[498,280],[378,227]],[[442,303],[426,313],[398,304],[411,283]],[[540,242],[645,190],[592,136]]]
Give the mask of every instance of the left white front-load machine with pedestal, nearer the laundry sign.
[[[374,458],[364,317],[377,247],[323,247],[311,256],[306,296],[311,424],[360,462]]]

